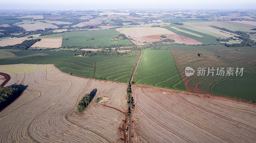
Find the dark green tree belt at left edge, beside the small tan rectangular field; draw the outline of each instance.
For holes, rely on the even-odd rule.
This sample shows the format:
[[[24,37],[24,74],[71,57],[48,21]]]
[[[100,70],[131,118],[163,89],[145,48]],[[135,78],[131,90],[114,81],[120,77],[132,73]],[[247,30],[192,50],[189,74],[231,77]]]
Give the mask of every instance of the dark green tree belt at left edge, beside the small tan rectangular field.
[[[21,44],[16,44],[12,46],[0,46],[0,49],[19,49],[19,50],[26,50],[33,44],[35,44],[37,41],[40,41],[41,39],[31,39],[31,40],[25,40]]]

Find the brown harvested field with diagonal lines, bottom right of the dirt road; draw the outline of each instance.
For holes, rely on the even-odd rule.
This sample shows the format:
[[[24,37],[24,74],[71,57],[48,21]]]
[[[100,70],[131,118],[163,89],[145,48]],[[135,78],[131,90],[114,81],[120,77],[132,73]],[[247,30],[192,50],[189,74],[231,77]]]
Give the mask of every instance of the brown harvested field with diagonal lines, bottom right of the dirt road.
[[[254,142],[256,105],[132,85],[133,142]]]

